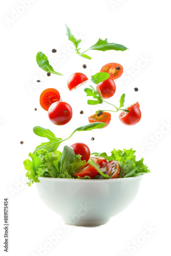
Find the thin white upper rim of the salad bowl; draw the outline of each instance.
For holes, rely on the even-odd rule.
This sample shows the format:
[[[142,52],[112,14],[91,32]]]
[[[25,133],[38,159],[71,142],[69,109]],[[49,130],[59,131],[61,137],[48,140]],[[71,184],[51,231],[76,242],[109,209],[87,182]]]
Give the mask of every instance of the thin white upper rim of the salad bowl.
[[[68,178],[50,178],[50,177],[43,177],[43,176],[40,176],[38,177],[38,179],[42,179],[42,180],[60,180],[60,181],[76,181],[76,180],[79,180],[79,181],[86,181],[86,182],[106,182],[106,181],[110,181],[110,182],[117,182],[117,181],[122,181],[122,180],[133,180],[133,179],[141,179],[144,175],[139,175],[139,176],[135,176],[135,177],[127,177],[127,178],[117,178],[117,179],[68,179]],[[72,181],[72,182],[73,182]],[[77,181],[76,181],[77,182]],[[39,182],[38,182],[39,183]],[[38,184],[37,183],[37,184]]]

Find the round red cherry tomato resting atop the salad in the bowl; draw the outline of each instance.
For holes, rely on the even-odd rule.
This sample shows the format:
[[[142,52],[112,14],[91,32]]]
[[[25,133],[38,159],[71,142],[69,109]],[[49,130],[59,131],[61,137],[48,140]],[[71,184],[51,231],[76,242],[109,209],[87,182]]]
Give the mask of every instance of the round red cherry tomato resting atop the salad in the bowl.
[[[91,152],[89,147],[86,144],[78,142],[78,143],[72,144],[70,147],[73,149],[75,155],[81,155],[82,161],[83,160],[86,160],[86,162],[89,161]]]

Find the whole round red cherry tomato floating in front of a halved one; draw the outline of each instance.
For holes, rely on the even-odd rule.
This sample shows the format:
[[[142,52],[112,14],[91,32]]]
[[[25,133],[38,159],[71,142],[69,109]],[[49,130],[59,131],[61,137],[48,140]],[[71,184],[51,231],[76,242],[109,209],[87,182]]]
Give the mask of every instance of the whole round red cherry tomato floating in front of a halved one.
[[[56,101],[49,107],[48,116],[52,123],[63,125],[71,120],[72,108],[67,102]]]

